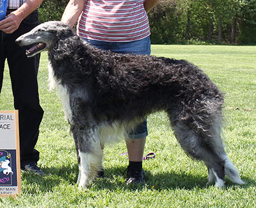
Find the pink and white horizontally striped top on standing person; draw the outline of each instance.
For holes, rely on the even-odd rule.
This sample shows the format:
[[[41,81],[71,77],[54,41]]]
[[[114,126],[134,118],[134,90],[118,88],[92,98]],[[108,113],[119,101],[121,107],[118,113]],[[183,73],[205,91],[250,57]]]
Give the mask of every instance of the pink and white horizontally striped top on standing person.
[[[86,0],[77,34],[106,42],[131,42],[149,36],[143,0]]]

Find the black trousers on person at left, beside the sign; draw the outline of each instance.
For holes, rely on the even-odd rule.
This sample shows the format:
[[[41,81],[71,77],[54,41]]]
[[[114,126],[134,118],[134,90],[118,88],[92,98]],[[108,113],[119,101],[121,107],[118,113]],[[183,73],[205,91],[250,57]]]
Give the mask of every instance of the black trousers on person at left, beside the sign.
[[[20,165],[37,162],[39,152],[35,150],[39,125],[44,114],[39,104],[37,72],[40,55],[28,58],[29,47],[20,47],[15,40],[39,24],[38,12],[31,13],[12,34],[0,31],[0,93],[3,85],[4,61],[8,61],[14,108],[19,110]]]

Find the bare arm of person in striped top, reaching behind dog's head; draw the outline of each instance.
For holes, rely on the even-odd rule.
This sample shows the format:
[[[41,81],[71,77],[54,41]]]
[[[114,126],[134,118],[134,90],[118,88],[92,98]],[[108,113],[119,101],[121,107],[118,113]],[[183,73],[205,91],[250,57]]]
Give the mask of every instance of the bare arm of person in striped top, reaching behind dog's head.
[[[70,0],[63,12],[61,22],[73,28],[83,12],[85,2],[86,0]]]

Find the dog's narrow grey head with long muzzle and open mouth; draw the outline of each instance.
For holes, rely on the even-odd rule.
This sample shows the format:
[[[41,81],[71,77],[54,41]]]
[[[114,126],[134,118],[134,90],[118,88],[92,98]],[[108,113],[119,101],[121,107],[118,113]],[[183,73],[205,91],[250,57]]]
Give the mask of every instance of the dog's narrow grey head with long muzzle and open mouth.
[[[33,45],[26,51],[28,57],[51,49],[58,40],[74,36],[74,31],[60,21],[49,21],[36,26],[28,33],[17,38],[20,46]]]

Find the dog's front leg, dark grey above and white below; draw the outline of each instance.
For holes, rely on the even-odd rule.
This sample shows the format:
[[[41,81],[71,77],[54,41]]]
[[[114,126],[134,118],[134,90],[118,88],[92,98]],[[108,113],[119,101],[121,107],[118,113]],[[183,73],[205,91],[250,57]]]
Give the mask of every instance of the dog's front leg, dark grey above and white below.
[[[69,120],[70,130],[76,143],[79,166],[77,184],[79,187],[84,187],[95,178],[97,171],[100,170],[103,150],[100,146],[97,124],[86,100],[73,97],[70,93],[70,107],[72,111]]]

